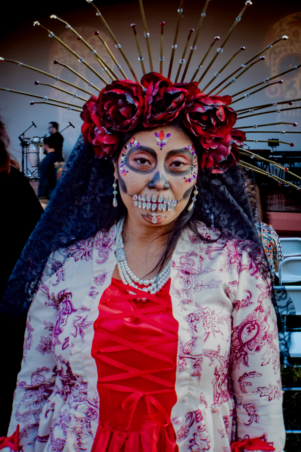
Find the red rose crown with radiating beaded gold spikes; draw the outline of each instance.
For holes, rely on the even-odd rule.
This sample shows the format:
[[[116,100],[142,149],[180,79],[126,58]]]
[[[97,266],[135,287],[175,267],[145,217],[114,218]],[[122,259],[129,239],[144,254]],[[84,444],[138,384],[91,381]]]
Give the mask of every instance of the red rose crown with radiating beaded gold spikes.
[[[108,26],[107,22],[103,18],[101,12],[93,4],[93,0],[86,0],[90,5],[93,6],[96,10],[96,15],[99,19],[101,19],[102,24],[105,28],[107,28],[107,32],[110,34],[111,39],[115,43],[116,49],[120,52],[122,58],[124,59],[128,69],[131,73],[131,78],[134,81],[129,80],[126,75],[124,68],[120,65],[120,63],[116,60],[115,56],[112,54],[110,48],[107,43],[101,37],[99,32],[95,31],[94,34],[97,38],[102,42],[106,51],[108,52],[111,60],[113,61],[116,71],[120,72],[120,75],[116,75],[115,70],[113,70],[106,62],[102,59],[101,55],[98,55],[97,51],[91,47],[91,45],[84,40],[84,38],[65,20],[60,19],[56,15],[52,14],[51,19],[57,19],[61,23],[65,24],[66,28],[69,29],[71,33],[73,33],[77,39],[82,42],[88,50],[91,52],[92,56],[96,59],[99,65],[102,67],[103,72],[102,75],[98,71],[96,71],[92,66],[88,64],[87,61],[79,56],[75,50],[70,48],[65,42],[63,42],[60,38],[58,38],[55,33],[51,30],[40,24],[40,22],[34,22],[34,25],[40,26],[46,30],[50,38],[55,39],[62,45],[67,51],[69,51],[73,56],[75,56],[83,65],[85,65],[90,71],[93,72],[94,75],[98,77],[99,80],[103,82],[105,87],[103,89],[99,89],[92,82],[89,82],[82,75],[78,74],[74,69],[71,69],[69,66],[66,66],[63,62],[54,61],[55,64],[64,66],[67,70],[71,71],[73,74],[78,75],[79,78],[87,83],[87,89],[83,89],[79,85],[74,85],[67,80],[62,80],[55,75],[48,74],[45,71],[41,71],[40,69],[36,69],[32,66],[28,66],[26,64],[20,63],[19,61],[8,60],[6,58],[0,58],[0,61],[8,61],[19,66],[27,67],[33,71],[37,71],[40,74],[46,75],[55,79],[59,83],[63,83],[68,85],[69,87],[73,87],[74,89],[81,91],[83,93],[89,94],[90,99],[84,99],[78,94],[70,93],[62,88],[56,87],[54,85],[48,85],[46,83],[41,83],[36,81],[36,85],[48,85],[54,89],[59,89],[60,91],[64,91],[66,94],[77,98],[77,101],[84,101],[85,104],[80,107],[78,104],[68,104],[66,102],[58,101],[57,99],[49,99],[46,96],[38,96],[36,94],[28,94],[23,93],[21,91],[10,90],[6,88],[6,91],[13,91],[19,94],[25,94],[29,96],[33,96],[38,99],[42,99],[42,102],[31,101],[30,104],[34,105],[37,103],[42,104],[50,104],[56,105],[61,108],[67,108],[67,110],[74,110],[80,112],[80,116],[83,119],[82,133],[84,140],[87,144],[93,146],[95,153],[98,157],[102,156],[111,156],[116,149],[118,148],[118,143],[120,141],[120,137],[122,137],[122,133],[130,132],[134,130],[135,127],[141,125],[146,128],[155,128],[162,127],[174,119],[181,117],[185,127],[189,130],[190,133],[194,134],[199,139],[199,143],[201,145],[201,155],[200,155],[200,167],[204,168],[212,168],[213,172],[223,172],[227,169],[228,166],[234,165],[237,163],[241,167],[251,169],[260,174],[269,175],[273,179],[277,180],[278,183],[286,183],[292,185],[294,188],[299,189],[299,187],[291,182],[285,181],[278,177],[275,174],[268,174],[266,171],[262,170],[254,160],[249,160],[249,162],[254,162],[255,165],[251,163],[244,162],[239,158],[239,151],[241,151],[242,155],[247,157],[256,158],[257,160],[266,160],[263,157],[255,156],[252,152],[244,150],[242,146],[244,146],[244,142],[267,142],[267,140],[261,139],[253,139],[247,140],[245,137],[245,133],[242,130],[238,130],[233,128],[236,124],[236,120],[243,118],[251,118],[254,115],[260,114],[257,113],[257,110],[268,108],[273,104],[264,104],[264,105],[255,105],[255,106],[245,106],[245,108],[241,108],[238,110],[239,116],[237,117],[237,113],[233,110],[232,105],[238,101],[247,102],[247,99],[250,98],[252,94],[258,93],[260,90],[265,89],[268,86],[273,84],[282,83],[282,80],[279,80],[279,77],[285,75],[291,71],[296,71],[301,67],[301,64],[298,66],[294,66],[287,71],[283,71],[280,74],[273,75],[271,78],[266,78],[265,80],[259,81],[253,86],[250,86],[244,90],[240,90],[235,94],[230,95],[219,95],[224,89],[229,88],[233,85],[233,83],[244,75],[246,71],[248,71],[252,66],[264,60],[264,56],[262,54],[268,51],[273,44],[281,40],[287,40],[287,36],[279,36],[273,42],[271,42],[268,46],[264,47],[261,51],[252,56],[248,61],[244,64],[237,64],[236,70],[229,70],[229,64],[234,63],[235,58],[245,50],[245,47],[240,47],[240,49],[234,53],[234,55],[229,56],[227,62],[221,67],[214,67],[216,64],[216,60],[220,56],[222,52],[225,50],[226,43],[230,38],[234,28],[237,24],[241,22],[242,15],[245,10],[252,5],[250,0],[243,1],[243,8],[241,12],[236,16],[236,19],[230,28],[230,31],[227,33],[227,36],[224,38],[220,47],[216,48],[216,52],[212,59],[208,62],[207,66],[205,61],[209,58],[210,52],[213,51],[214,45],[220,40],[218,36],[216,36],[213,42],[208,47],[207,51],[204,53],[204,56],[201,58],[201,61],[198,66],[196,66],[196,70],[191,77],[189,70],[189,66],[191,61],[193,61],[192,57],[194,53],[197,53],[197,41],[199,38],[199,34],[202,28],[203,21],[205,20],[207,14],[207,8],[210,0],[205,0],[204,8],[202,13],[200,14],[199,25],[194,34],[194,41],[190,46],[190,52],[188,58],[185,62],[185,54],[187,49],[189,48],[190,38],[194,33],[194,29],[190,28],[189,35],[187,41],[185,43],[184,52],[182,53],[178,70],[176,73],[175,81],[171,81],[171,72],[173,63],[175,61],[176,49],[177,49],[177,38],[179,27],[181,23],[182,13],[183,13],[183,0],[180,1],[180,6],[177,10],[178,12],[178,20],[176,24],[176,32],[172,44],[171,49],[171,58],[168,67],[168,75],[164,77],[163,74],[163,42],[164,42],[164,25],[165,22],[160,23],[161,27],[161,47],[160,47],[160,57],[159,57],[159,73],[155,72],[153,69],[153,58],[150,47],[150,35],[148,33],[147,23],[144,14],[144,7],[142,0],[139,0],[139,7],[141,10],[141,16],[143,19],[144,25],[144,37],[146,39],[147,49],[148,49],[148,59],[149,59],[149,68],[150,72],[146,73],[144,66],[144,57],[142,56],[139,38],[136,31],[135,24],[131,24],[130,27],[134,32],[134,38],[137,45],[137,50],[139,54],[139,61],[141,64],[141,69],[143,72],[143,77],[139,83],[139,80],[130,65],[129,60],[125,56],[125,53],[122,49],[121,44],[116,39],[115,35],[112,33],[111,28]],[[206,61],[207,63],[207,61]],[[164,63],[165,64],[165,63]],[[213,68],[212,68],[213,66]],[[218,69],[218,71],[216,71]],[[197,80],[197,75],[200,73],[199,80]],[[212,71],[211,80],[208,81],[207,85],[199,88],[200,83],[204,79],[206,75],[210,78],[210,72]],[[216,71],[216,72],[215,72]],[[221,82],[217,83],[218,77],[222,74],[223,71],[229,71],[229,75],[222,79]],[[190,81],[186,81],[186,77],[190,75]],[[180,80],[181,76],[181,81]],[[122,77],[119,79],[119,77]],[[210,85],[215,85],[213,88],[209,88]],[[252,91],[253,88],[255,90]],[[259,87],[259,88],[258,88]],[[97,96],[91,93],[91,89],[95,89],[97,91]],[[210,91],[207,92],[207,90]],[[214,93],[214,94],[213,94]],[[241,97],[239,97],[241,95]],[[236,98],[235,100],[232,100]],[[67,106],[66,106],[67,104]],[[262,112],[262,113],[278,113],[281,111],[279,109],[279,104],[289,104],[292,105],[292,100],[286,100],[281,103],[278,103],[277,109]],[[276,104],[277,105],[277,104]],[[301,107],[292,107],[294,109]],[[289,110],[289,108],[285,108]],[[256,110],[256,113],[255,113]],[[269,124],[259,124],[259,125],[245,125],[240,128],[250,128],[250,127],[260,127],[263,126],[273,126],[277,124],[277,122],[271,122]],[[291,123],[285,123],[290,125]],[[292,126],[296,126],[296,122],[291,124]],[[261,132],[261,131],[260,131]],[[270,133],[279,133],[279,131],[269,131]],[[253,132],[256,133],[256,132]],[[283,132],[281,132],[283,133]],[[289,133],[287,131],[286,133]],[[296,133],[296,132],[295,132]],[[301,132],[297,132],[301,133]],[[253,136],[254,137],[254,136]],[[279,141],[279,143],[293,146],[293,143],[287,143],[285,141]],[[161,146],[162,147],[162,146]],[[283,168],[281,165],[276,163],[276,166],[281,168],[282,170],[287,170],[287,168]],[[295,176],[298,178],[298,176]],[[301,178],[299,178],[301,179]]]

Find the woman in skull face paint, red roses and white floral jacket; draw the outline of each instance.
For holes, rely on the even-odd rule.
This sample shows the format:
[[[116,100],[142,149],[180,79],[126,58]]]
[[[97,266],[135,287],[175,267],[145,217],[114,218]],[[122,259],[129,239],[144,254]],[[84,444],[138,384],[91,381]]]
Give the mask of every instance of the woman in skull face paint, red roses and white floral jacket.
[[[165,80],[154,73],[141,83],[147,91]],[[206,102],[194,84],[173,87],[177,98],[184,93],[180,115],[177,104],[160,124],[138,106],[125,127],[116,109],[115,119],[104,109],[111,96],[124,111],[120,99],[140,89],[124,85],[126,96],[113,82],[83,115],[86,142],[113,165],[79,140],[47,207],[50,222],[73,182],[73,226],[60,214],[71,244],[51,253],[28,312],[9,434],[19,424],[24,452],[279,452],[285,430],[269,270],[243,179],[236,167],[222,174],[233,165],[237,133],[228,152],[204,151],[195,130],[207,118],[194,115],[191,127],[188,120],[193,99]],[[216,128],[232,128],[229,102],[212,102]],[[88,236],[87,223],[98,231]],[[75,225],[82,240],[71,240]]]

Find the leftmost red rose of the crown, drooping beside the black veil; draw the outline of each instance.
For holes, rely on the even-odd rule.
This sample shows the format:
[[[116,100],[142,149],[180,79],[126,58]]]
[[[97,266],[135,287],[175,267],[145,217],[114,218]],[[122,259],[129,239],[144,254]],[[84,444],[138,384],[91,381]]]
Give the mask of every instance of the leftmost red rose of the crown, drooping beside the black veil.
[[[101,125],[99,115],[97,114],[97,97],[91,96],[83,105],[83,111],[80,113],[83,119],[82,134],[86,144],[92,145],[97,157],[111,155],[116,151],[119,134],[108,131]]]

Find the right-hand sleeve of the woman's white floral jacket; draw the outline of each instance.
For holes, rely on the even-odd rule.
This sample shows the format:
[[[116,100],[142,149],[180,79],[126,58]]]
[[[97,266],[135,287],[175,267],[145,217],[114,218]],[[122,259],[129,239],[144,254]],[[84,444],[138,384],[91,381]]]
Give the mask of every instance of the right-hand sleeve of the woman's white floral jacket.
[[[285,428],[276,314],[269,278],[244,252],[235,300],[230,371],[236,400],[236,438],[260,438],[282,451]]]

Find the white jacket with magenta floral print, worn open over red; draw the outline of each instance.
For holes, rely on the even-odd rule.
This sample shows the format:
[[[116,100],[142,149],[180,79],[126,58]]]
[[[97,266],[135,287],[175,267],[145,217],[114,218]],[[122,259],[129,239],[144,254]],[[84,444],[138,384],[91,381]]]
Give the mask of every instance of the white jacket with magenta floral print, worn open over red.
[[[200,232],[218,236],[202,223]],[[115,235],[115,226],[99,231],[56,250],[46,264],[28,312],[8,433],[20,424],[24,452],[92,449],[101,403],[93,323],[116,266]],[[179,339],[171,420],[180,452],[231,452],[232,441],[258,437],[276,452],[284,447],[269,281],[241,243],[204,243],[186,231],[172,255]]]

